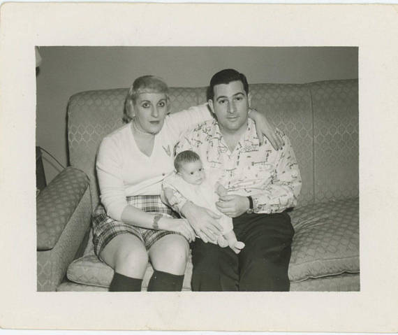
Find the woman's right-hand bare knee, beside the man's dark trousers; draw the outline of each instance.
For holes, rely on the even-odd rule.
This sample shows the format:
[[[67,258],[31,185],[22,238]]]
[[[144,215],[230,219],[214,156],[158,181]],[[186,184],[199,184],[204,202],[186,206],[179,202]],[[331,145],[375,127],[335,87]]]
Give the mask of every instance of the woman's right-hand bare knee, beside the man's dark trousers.
[[[189,243],[177,234],[164,236],[149,250],[149,257],[156,270],[182,275],[189,258]]]

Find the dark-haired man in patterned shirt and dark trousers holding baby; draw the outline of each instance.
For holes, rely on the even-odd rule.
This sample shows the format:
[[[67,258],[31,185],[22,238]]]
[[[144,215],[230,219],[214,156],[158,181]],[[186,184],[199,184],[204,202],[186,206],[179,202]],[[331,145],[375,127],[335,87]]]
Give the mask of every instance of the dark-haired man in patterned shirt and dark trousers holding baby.
[[[294,230],[286,209],[297,204],[302,184],[290,141],[283,135],[281,150],[274,150],[266,139],[259,142],[248,117],[251,97],[242,73],[216,73],[208,95],[216,120],[184,134],[176,153],[197,152],[205,170],[226,187],[228,194],[216,206],[233,218],[237,240],[245,247],[235,254],[197,238],[192,245],[192,290],[288,291]],[[189,222],[198,221],[194,207],[189,202],[180,207]],[[193,228],[203,236],[198,225]]]

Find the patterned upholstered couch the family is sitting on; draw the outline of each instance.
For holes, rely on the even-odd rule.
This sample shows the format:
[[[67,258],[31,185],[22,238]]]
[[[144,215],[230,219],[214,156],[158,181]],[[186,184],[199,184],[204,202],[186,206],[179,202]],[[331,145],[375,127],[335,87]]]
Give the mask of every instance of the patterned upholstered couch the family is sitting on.
[[[37,290],[106,291],[113,270],[94,255],[91,213],[101,139],[121,126],[127,89],[74,94],[68,102],[71,166],[38,194]],[[288,134],[302,173],[289,214],[295,229],[292,291],[358,291],[358,80],[250,85],[252,106]],[[205,101],[205,87],[172,87],[172,111]],[[183,290],[190,290],[188,264]],[[146,290],[152,267],[143,280]]]

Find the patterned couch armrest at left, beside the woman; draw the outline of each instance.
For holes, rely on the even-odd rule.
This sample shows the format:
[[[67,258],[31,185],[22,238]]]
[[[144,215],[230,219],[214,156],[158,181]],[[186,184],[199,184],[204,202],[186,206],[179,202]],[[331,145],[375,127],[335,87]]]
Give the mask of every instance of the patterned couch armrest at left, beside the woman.
[[[37,290],[54,291],[91,221],[89,179],[64,169],[37,197]]]

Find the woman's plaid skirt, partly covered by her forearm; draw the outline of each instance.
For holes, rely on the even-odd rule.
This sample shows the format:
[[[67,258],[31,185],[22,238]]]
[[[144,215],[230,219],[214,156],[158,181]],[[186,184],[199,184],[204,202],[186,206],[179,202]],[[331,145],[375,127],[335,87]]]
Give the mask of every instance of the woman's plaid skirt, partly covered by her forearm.
[[[179,218],[179,215],[175,211],[172,211],[171,208],[163,204],[159,195],[138,195],[126,197],[126,200],[129,205],[147,213],[161,214],[166,218]],[[112,238],[120,234],[133,234],[137,236],[147,250],[163,236],[179,234],[175,231],[134,227],[131,224],[113,220],[106,214],[105,208],[101,204],[94,211],[92,222],[94,252],[99,259],[101,259],[100,254],[103,248],[105,248]]]

